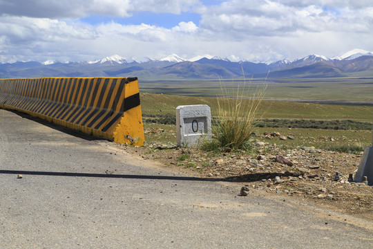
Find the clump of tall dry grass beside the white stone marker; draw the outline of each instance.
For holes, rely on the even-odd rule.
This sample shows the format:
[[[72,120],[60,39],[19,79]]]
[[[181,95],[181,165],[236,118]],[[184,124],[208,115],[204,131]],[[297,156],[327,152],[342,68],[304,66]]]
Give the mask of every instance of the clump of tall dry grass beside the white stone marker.
[[[258,107],[265,96],[267,84],[252,83],[243,80],[232,89],[227,89],[220,80],[222,94],[218,96],[218,118],[213,127],[213,133],[221,147],[242,149],[247,145],[256,122],[263,113],[258,113]],[[234,83],[234,82],[233,82]]]

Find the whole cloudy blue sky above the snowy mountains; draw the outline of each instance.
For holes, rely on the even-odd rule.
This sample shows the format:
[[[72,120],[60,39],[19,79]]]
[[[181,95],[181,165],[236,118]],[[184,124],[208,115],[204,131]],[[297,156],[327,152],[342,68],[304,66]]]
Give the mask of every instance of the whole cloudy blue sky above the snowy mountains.
[[[0,0],[0,62],[373,51],[372,0]]]

